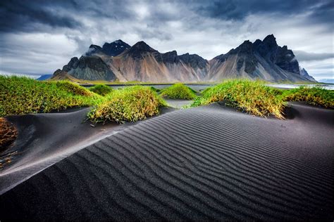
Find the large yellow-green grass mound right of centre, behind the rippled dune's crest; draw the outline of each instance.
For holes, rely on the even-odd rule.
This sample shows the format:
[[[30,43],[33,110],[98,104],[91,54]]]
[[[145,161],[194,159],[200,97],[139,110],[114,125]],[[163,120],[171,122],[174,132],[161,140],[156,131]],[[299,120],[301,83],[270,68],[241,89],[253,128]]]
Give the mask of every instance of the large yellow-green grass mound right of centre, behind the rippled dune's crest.
[[[285,102],[277,91],[264,86],[261,81],[243,79],[228,80],[202,93],[192,103],[192,107],[228,100],[230,105],[261,117],[273,115],[283,119]]]

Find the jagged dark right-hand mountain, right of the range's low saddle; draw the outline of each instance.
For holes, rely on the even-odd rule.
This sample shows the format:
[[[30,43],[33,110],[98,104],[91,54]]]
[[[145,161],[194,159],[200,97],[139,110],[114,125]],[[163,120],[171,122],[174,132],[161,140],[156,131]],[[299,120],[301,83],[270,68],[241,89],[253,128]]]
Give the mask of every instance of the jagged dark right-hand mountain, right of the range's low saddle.
[[[267,81],[309,81],[299,73],[295,55],[287,46],[280,47],[273,35],[254,44],[245,41],[226,54],[209,61],[207,79],[219,81],[225,78],[264,79]]]

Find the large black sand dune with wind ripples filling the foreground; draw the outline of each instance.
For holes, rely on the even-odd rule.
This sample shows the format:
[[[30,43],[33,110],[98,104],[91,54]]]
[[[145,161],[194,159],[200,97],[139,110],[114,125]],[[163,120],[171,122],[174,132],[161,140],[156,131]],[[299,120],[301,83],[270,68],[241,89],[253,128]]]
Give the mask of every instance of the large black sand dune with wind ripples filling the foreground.
[[[169,112],[0,196],[1,221],[333,221],[333,110],[285,121],[218,104]]]

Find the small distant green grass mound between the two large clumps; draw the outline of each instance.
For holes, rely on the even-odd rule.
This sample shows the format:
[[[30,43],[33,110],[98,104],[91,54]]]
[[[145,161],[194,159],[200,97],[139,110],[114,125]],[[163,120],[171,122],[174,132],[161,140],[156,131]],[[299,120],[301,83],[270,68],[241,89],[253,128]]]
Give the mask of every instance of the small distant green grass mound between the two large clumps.
[[[184,84],[173,84],[173,86],[162,89],[161,96],[166,96],[172,99],[192,100],[196,98],[196,93]]]

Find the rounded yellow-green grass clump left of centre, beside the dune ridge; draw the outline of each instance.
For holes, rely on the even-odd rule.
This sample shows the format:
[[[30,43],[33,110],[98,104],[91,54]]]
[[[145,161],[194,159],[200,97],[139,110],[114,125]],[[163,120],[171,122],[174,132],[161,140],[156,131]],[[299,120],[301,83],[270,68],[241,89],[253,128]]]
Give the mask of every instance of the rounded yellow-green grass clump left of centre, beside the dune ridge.
[[[137,122],[159,114],[159,107],[166,102],[147,86],[128,86],[115,90],[91,112],[92,122]]]

